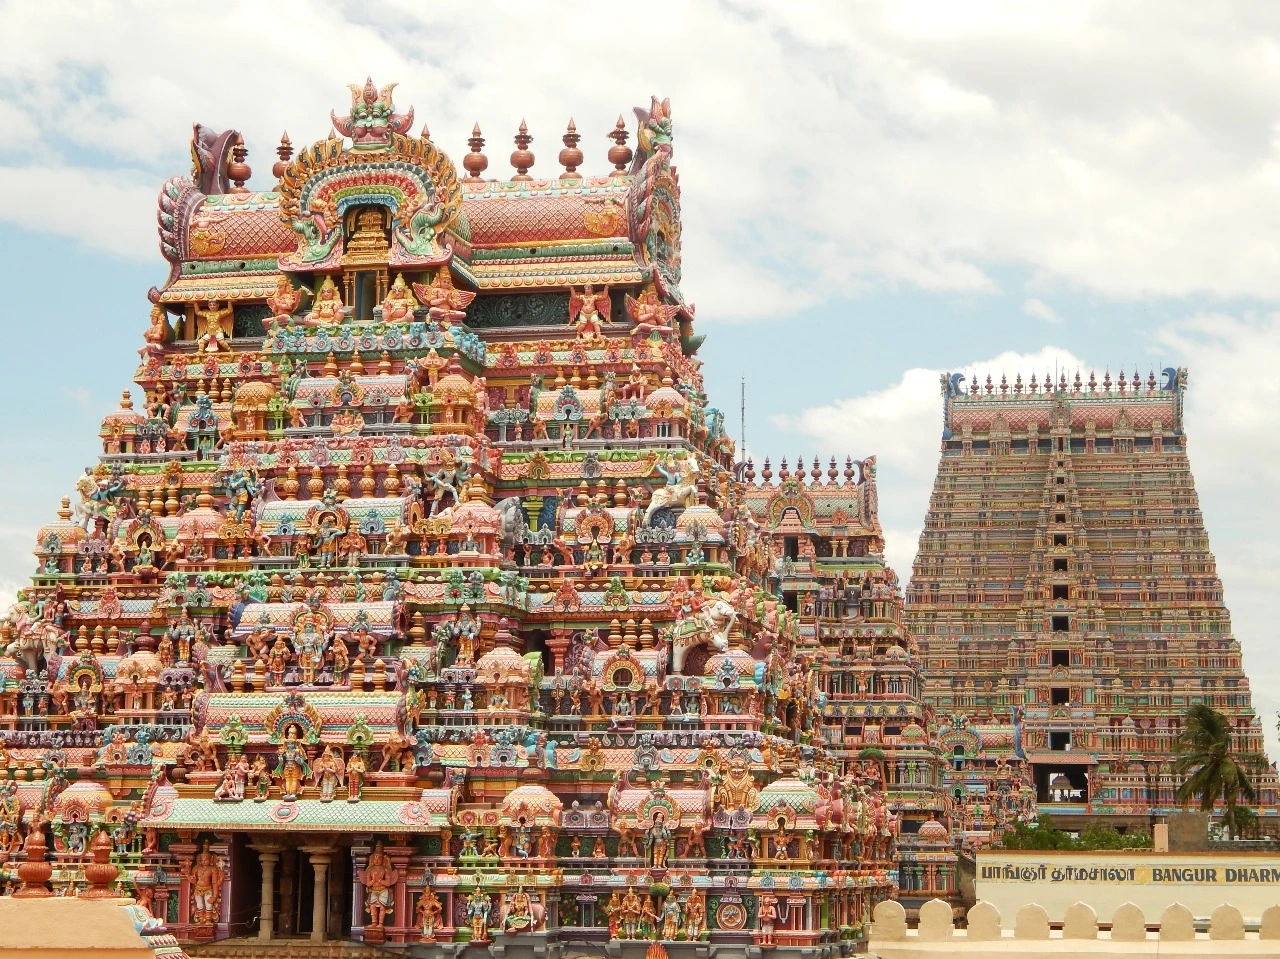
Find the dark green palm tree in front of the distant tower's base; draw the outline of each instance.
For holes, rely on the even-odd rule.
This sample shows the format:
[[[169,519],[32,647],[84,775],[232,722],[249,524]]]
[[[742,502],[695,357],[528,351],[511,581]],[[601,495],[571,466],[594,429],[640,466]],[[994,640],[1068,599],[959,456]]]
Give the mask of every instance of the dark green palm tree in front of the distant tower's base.
[[[1230,721],[1204,703],[1197,703],[1183,716],[1176,748],[1181,755],[1175,768],[1190,773],[1178,787],[1178,802],[1185,807],[1198,799],[1201,812],[1206,813],[1221,802],[1226,807],[1228,832],[1234,839],[1235,808],[1242,799],[1247,803],[1257,799],[1251,776],[1266,768],[1266,757],[1238,753],[1231,741]]]

